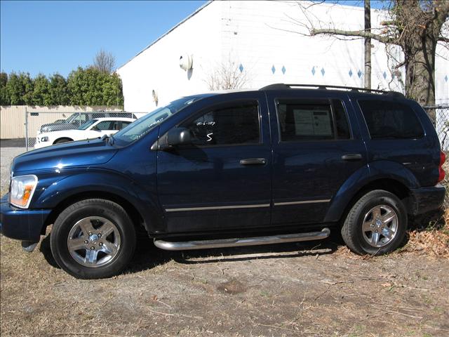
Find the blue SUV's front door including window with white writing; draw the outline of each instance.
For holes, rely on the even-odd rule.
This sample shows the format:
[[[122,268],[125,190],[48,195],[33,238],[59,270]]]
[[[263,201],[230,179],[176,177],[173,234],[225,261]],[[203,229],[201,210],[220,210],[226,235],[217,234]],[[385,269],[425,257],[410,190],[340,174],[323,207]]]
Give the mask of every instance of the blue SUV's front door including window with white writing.
[[[180,123],[192,146],[158,151],[168,232],[263,227],[271,216],[271,145],[264,95],[213,105]]]

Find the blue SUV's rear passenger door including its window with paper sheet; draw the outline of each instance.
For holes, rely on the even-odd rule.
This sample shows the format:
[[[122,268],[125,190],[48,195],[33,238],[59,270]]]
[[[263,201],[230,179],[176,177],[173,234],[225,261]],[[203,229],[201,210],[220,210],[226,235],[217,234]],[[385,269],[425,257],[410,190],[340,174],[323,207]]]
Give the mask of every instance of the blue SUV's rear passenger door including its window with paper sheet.
[[[273,225],[321,223],[344,182],[366,165],[345,93],[267,92],[273,128]]]

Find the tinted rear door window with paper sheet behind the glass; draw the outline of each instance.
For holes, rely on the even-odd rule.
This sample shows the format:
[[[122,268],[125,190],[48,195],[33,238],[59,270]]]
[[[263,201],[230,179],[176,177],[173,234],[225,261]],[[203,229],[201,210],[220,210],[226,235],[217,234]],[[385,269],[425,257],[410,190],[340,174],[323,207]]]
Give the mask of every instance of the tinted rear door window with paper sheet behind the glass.
[[[340,100],[316,103],[278,100],[277,112],[283,142],[351,138]]]

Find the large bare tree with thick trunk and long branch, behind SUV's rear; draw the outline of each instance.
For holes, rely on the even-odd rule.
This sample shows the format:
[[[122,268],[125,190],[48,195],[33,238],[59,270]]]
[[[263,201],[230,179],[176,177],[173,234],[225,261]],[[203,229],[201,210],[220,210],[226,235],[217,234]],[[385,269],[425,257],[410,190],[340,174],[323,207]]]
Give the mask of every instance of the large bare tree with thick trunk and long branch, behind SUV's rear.
[[[406,67],[406,95],[424,105],[435,104],[435,58],[438,43],[449,48],[447,35],[449,1],[447,0],[391,0],[385,1],[389,20],[381,22],[382,27],[373,30],[345,30],[328,25],[323,21],[309,20],[307,10],[299,2],[306,15],[307,23],[297,21],[297,25],[307,27],[309,35],[327,34],[333,37],[370,38],[387,45],[399,46],[404,60],[395,66]]]

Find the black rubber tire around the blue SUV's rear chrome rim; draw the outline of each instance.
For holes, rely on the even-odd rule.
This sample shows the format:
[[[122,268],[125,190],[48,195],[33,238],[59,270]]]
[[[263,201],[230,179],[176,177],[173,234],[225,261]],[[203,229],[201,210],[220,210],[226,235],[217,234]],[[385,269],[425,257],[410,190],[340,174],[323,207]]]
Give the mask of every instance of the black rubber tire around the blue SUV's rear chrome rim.
[[[385,207],[390,208],[396,213],[396,230],[394,231],[394,236],[389,239],[387,236],[382,236],[381,228],[387,227],[380,221],[380,223],[376,223],[373,218],[374,213],[369,212],[377,207]],[[368,220],[366,223],[373,222],[373,232],[371,232],[371,237],[368,237],[369,232],[362,230],[363,220],[365,216],[368,216]],[[379,217],[381,218],[381,217]],[[387,218],[387,217],[385,217]],[[396,197],[395,194],[384,190],[374,190],[368,192],[363,195],[354,206],[352,206],[351,210],[347,214],[347,218],[344,220],[344,224],[342,226],[342,238],[348,248],[354,253],[358,253],[360,255],[370,254],[370,255],[382,255],[384,253],[389,253],[398,248],[398,246],[403,242],[404,237],[406,236],[407,231],[407,211],[403,202]],[[390,226],[393,222],[388,223]],[[387,224],[387,225],[388,225]],[[380,227],[382,226],[382,227]],[[380,237],[386,242],[380,242],[383,246],[373,246],[373,234],[379,229]],[[364,234],[365,233],[365,234]],[[377,232],[376,232],[377,233]],[[368,237],[368,238],[367,238]],[[370,240],[371,239],[371,240]],[[388,240],[388,241],[387,241]],[[371,241],[371,244],[368,242]]]

